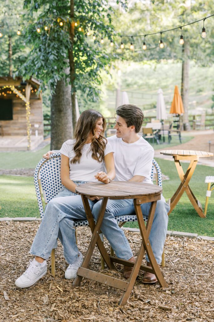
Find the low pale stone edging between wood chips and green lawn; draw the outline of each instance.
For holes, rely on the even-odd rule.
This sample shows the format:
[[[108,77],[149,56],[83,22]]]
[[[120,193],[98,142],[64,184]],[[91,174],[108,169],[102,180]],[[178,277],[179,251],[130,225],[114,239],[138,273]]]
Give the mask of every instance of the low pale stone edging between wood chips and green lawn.
[[[15,217],[15,218],[9,218],[4,217],[0,218],[0,222],[5,221],[12,221],[12,222],[32,222],[32,221],[41,221],[41,218],[37,217]],[[140,232],[139,228],[130,228],[130,227],[122,227],[123,230],[128,230],[130,232]],[[206,241],[213,241],[214,237],[210,236],[199,236],[198,234],[192,234],[191,232],[172,232],[167,230],[167,237],[173,236],[173,237],[188,237],[188,238],[197,238],[197,239],[203,239]]]

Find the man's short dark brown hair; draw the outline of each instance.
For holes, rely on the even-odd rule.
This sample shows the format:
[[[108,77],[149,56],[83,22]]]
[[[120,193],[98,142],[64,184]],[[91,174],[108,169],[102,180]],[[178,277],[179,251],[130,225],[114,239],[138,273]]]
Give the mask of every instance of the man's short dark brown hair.
[[[140,132],[143,123],[143,112],[139,107],[132,104],[121,105],[116,109],[116,114],[124,118],[128,128],[134,125],[135,132]]]

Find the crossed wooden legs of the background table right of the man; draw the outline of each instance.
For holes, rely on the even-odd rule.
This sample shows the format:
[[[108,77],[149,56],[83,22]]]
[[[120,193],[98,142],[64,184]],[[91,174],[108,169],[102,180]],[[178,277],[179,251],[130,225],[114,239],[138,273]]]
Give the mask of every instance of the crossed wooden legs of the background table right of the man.
[[[178,201],[180,200],[181,196],[183,195],[183,193],[185,191],[189,200],[191,201],[193,207],[195,208],[195,210],[199,214],[199,216],[201,218],[206,218],[205,215],[203,214],[202,208],[198,205],[198,201],[195,198],[192,190],[189,187],[189,182],[190,182],[190,179],[194,173],[197,162],[198,162],[198,159],[191,160],[190,164],[188,166],[188,169],[186,170],[186,173],[184,174],[184,170],[180,164],[180,161],[175,160],[175,166],[176,166],[178,175],[180,177],[181,184],[179,185],[179,187],[177,188],[177,190],[175,191],[174,195],[172,196],[172,198],[170,200],[170,211],[168,214],[170,214],[172,212],[172,210],[175,208],[176,204],[178,203]]]

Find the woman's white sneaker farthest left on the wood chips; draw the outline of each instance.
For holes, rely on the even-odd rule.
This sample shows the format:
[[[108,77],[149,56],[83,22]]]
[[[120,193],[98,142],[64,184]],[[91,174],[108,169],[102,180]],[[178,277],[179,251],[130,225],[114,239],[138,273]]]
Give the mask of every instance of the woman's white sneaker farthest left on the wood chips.
[[[21,289],[29,287],[41,279],[47,272],[47,261],[42,265],[37,260],[30,260],[26,271],[15,281],[15,285]]]

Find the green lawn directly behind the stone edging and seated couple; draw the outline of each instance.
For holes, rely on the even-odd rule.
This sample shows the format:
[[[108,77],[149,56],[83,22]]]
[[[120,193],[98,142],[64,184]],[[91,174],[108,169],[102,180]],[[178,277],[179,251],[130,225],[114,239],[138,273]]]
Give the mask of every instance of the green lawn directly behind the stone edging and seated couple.
[[[47,149],[45,149],[47,151]],[[156,159],[163,174],[170,180],[163,181],[163,195],[166,200],[172,196],[179,185],[179,177],[173,161]],[[183,164],[184,171],[188,164]],[[204,208],[207,184],[206,175],[213,168],[197,165],[192,176],[190,187]],[[0,176],[1,210],[0,217],[39,217],[39,209],[32,177]],[[126,227],[138,227],[137,223],[126,223]],[[200,218],[186,194],[182,196],[175,209],[169,215],[168,230],[192,232],[200,235],[214,236],[214,198],[211,195],[208,204],[207,218]]]

